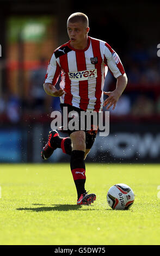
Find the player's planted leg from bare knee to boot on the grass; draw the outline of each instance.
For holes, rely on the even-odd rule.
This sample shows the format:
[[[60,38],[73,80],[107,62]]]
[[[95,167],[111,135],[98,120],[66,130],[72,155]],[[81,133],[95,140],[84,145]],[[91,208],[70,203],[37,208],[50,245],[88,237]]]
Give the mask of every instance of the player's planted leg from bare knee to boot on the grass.
[[[85,190],[85,132],[74,131],[70,134],[72,141],[71,172],[77,189],[77,204],[89,205],[96,199],[95,194],[88,194]]]

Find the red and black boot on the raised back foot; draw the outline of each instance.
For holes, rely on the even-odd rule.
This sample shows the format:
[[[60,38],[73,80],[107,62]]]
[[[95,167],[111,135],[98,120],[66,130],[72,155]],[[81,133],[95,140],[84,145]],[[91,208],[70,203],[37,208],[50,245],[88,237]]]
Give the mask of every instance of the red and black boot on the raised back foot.
[[[41,157],[44,160],[47,160],[52,154],[55,149],[57,149],[57,146],[54,146],[54,137],[59,136],[59,133],[57,131],[50,131],[48,135],[48,141],[45,147],[41,151]],[[51,146],[51,139],[52,139],[52,146]]]

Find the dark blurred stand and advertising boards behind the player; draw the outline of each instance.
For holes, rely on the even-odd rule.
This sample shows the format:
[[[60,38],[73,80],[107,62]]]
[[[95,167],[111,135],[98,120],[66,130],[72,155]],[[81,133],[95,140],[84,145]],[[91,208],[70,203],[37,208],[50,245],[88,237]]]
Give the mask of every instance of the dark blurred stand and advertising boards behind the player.
[[[51,112],[59,110],[59,98],[47,96],[42,84],[53,51],[69,41],[67,18],[77,11],[89,17],[89,35],[119,54],[128,77],[110,110],[109,136],[97,136],[87,161],[160,162],[159,9],[154,1],[0,0],[0,162],[42,162]],[[104,90],[115,84],[108,71]],[[61,161],[69,157],[57,149],[47,162]]]

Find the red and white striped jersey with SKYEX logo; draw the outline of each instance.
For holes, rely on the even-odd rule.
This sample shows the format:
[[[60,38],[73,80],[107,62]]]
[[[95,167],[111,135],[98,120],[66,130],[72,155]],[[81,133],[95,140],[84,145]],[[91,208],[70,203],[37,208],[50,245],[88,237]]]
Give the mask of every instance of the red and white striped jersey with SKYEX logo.
[[[90,36],[88,39],[84,50],[72,48],[69,41],[53,52],[45,83],[55,86],[61,71],[60,87],[65,94],[60,97],[60,102],[99,112],[103,106],[105,70],[109,68],[115,78],[125,70],[118,54],[107,42]]]

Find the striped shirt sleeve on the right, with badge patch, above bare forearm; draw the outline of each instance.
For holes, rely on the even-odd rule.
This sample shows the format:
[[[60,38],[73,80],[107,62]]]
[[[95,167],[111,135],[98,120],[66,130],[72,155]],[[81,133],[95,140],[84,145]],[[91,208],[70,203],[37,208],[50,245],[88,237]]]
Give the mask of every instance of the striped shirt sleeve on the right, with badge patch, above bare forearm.
[[[104,46],[104,63],[108,66],[115,78],[125,74],[124,67],[118,54],[107,44],[107,42]]]

